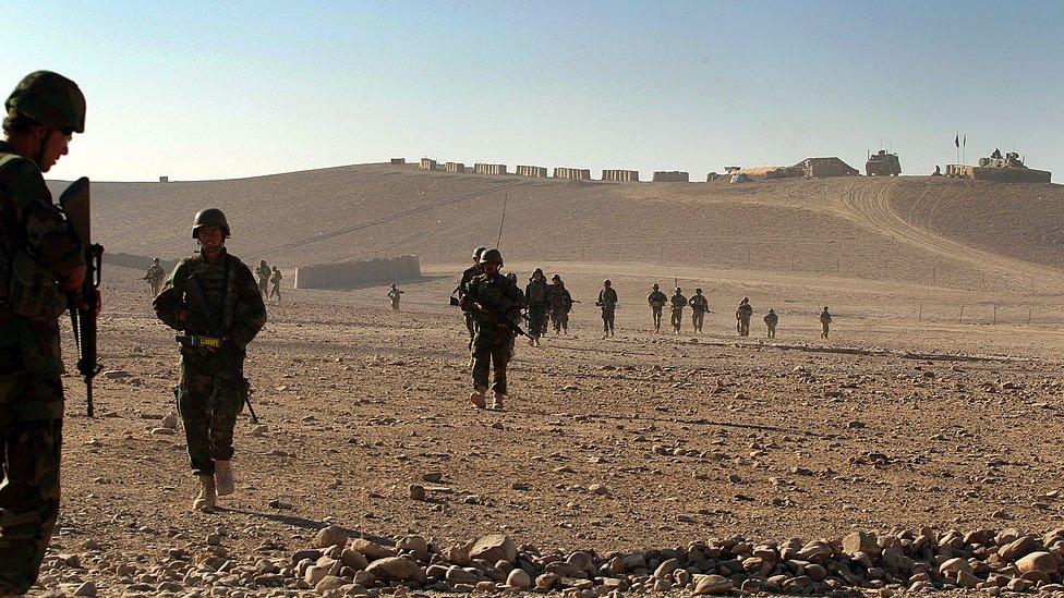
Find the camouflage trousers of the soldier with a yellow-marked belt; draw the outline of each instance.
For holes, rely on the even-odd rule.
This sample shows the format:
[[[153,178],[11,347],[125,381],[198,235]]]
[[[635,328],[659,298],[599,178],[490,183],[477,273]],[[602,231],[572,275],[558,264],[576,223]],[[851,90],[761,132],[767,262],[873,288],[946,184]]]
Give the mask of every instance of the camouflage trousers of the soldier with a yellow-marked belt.
[[[243,371],[243,358],[239,358]],[[233,427],[244,406],[244,392],[233,381],[220,356],[181,356],[181,385],[178,387],[178,411],[184,424],[185,442],[192,473],[209,476],[215,461],[232,459]]]

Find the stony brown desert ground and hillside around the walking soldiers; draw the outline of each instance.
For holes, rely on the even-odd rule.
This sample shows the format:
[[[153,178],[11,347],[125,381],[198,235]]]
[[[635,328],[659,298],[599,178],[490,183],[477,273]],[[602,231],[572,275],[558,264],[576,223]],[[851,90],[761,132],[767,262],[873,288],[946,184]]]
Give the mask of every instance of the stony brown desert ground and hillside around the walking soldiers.
[[[249,352],[261,422],[238,422],[238,491],[208,515],[189,510],[171,417],[174,332],[142,271],[106,267],[97,417],[69,375],[62,514],[35,591],[1062,590],[1061,199],[930,178],[603,184],[382,164],[97,184],[108,252],[178,258],[193,213],[217,206],[232,252],[287,282]],[[567,335],[518,340],[505,410],[480,411],[447,297],[504,200],[505,270],[542,266],[581,303]],[[386,284],[288,288],[301,265],[402,254],[424,277],[401,284],[399,313]],[[609,340],[604,278],[620,295]],[[680,334],[654,333],[654,282],[702,288],[705,333],[689,310]],[[418,571],[385,571],[397,554]]]

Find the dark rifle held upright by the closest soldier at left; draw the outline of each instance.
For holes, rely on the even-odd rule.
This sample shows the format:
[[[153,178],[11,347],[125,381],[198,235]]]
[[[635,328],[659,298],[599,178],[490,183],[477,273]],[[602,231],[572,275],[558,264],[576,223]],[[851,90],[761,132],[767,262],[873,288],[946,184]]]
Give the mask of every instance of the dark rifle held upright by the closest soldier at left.
[[[96,310],[99,309],[104,246],[93,243],[88,179],[82,176],[71,183],[59,196],[59,206],[66,213],[74,235],[85,247],[85,282],[77,291],[66,293],[66,308],[74,343],[77,344],[77,373],[85,380],[86,413],[93,417],[93,378],[102,369],[96,353]]]

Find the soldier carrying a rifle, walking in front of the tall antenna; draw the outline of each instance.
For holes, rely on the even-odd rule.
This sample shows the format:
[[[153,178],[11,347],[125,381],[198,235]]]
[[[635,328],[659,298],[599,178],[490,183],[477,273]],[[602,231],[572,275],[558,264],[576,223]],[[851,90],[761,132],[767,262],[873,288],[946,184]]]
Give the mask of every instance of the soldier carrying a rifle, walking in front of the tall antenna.
[[[477,408],[486,406],[484,394],[488,373],[494,368],[492,408],[500,410],[506,399],[506,366],[513,356],[515,328],[521,319],[524,294],[499,273],[503,254],[498,249],[485,249],[480,265],[482,273],[469,281],[459,302],[477,325],[472,351],[473,392],[469,400]]]

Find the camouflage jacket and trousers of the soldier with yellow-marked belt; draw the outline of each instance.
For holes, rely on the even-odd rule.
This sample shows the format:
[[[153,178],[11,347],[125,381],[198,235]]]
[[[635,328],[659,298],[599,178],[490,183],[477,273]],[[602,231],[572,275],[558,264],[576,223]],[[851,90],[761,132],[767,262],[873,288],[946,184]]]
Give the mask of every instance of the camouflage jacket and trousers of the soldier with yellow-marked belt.
[[[210,313],[222,318],[227,342],[222,349],[181,346],[181,383],[178,408],[184,422],[189,460],[196,475],[211,476],[215,461],[232,457],[233,426],[244,406],[247,391],[217,351],[231,351],[243,379],[247,343],[266,324],[266,306],[251,270],[223,251],[217,264],[207,264],[197,254],[181,260],[155,297],[155,313],[164,324],[188,334],[213,337],[206,314],[185,297],[189,277],[195,276]],[[178,314],[188,309],[184,322]],[[215,387],[223,389],[215,392]],[[237,391],[229,391],[235,389]]]

